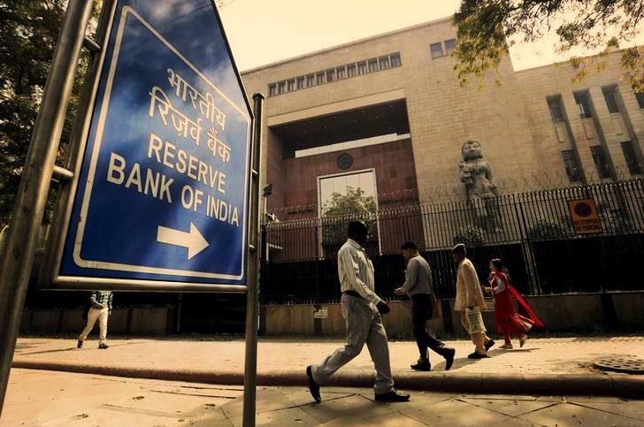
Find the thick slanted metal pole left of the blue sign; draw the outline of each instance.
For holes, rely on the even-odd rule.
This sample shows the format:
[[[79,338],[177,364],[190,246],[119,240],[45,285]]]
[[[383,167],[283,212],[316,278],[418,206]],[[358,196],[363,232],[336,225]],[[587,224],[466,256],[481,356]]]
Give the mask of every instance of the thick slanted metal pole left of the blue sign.
[[[6,247],[0,258],[0,416],[34,263],[35,245],[92,4],[93,0],[70,0],[67,5],[13,205]]]

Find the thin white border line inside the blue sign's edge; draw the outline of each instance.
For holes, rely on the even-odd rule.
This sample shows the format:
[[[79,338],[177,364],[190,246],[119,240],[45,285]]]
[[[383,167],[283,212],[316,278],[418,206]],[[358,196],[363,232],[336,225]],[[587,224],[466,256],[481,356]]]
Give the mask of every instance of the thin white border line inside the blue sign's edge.
[[[142,266],[142,265],[132,265],[132,264],[126,264],[126,263],[106,263],[104,261],[91,261],[91,260],[86,260],[83,259],[80,256],[80,247],[82,245],[82,238],[83,234],[85,233],[85,224],[87,223],[87,214],[88,214],[88,209],[89,209],[89,199],[92,195],[92,186],[94,184],[94,178],[96,175],[96,163],[98,161],[98,154],[101,149],[101,143],[103,141],[103,128],[105,125],[105,117],[107,116],[107,111],[108,107],[110,104],[110,96],[111,96],[111,87],[112,87],[112,82],[114,80],[114,73],[116,71],[116,65],[119,60],[119,52],[120,52],[120,45],[123,39],[123,32],[125,29],[125,24],[126,24],[126,19],[127,19],[127,14],[132,14],[134,18],[138,19],[145,27],[149,29],[149,31],[154,34],[159,41],[163,42],[165,46],[168,47],[168,49],[172,50],[173,53],[177,56],[180,57],[180,59],[186,63],[194,72],[196,72],[199,77],[201,77],[208,85],[211,86],[217,93],[226,100],[227,103],[229,103],[234,110],[239,111],[240,114],[242,114],[242,117],[246,119],[248,123],[247,127],[247,138],[249,138],[250,135],[250,118],[248,116],[247,111],[243,111],[240,109],[235,103],[233,103],[219,88],[217,88],[210,80],[206,78],[206,76],[203,75],[202,72],[200,72],[195,65],[192,65],[186,57],[180,54],[178,50],[176,50],[172,44],[167,42],[165,38],[161,35],[158,34],[157,31],[149,25],[149,23],[141,17],[134,9],[130,6],[125,6],[123,7],[123,10],[121,11],[121,16],[120,16],[120,22],[119,22],[119,30],[117,31],[116,34],[116,40],[115,40],[115,45],[114,45],[114,51],[112,53],[112,58],[111,58],[111,64],[110,64],[110,70],[108,72],[107,76],[107,83],[105,86],[105,93],[103,95],[103,100],[102,100],[102,105],[101,105],[101,111],[99,114],[98,118],[98,126],[96,127],[96,137],[94,141],[94,148],[92,150],[92,156],[90,159],[89,163],[89,169],[88,169],[88,179],[87,183],[85,186],[85,192],[83,194],[83,202],[81,205],[80,209],[80,221],[78,224],[78,230],[76,233],[76,239],[74,241],[74,246],[73,246],[73,260],[74,262],[79,265],[80,267],[83,268],[89,268],[89,269],[100,269],[100,270],[113,270],[113,271],[132,271],[132,272],[138,272],[138,273],[148,273],[148,274],[162,274],[162,275],[167,275],[167,276],[184,276],[184,277],[195,277],[195,278],[219,278],[219,279],[226,279],[226,280],[240,280],[244,277],[244,262],[246,260],[246,251],[244,250],[244,242],[246,241],[246,228],[247,228],[247,221],[248,221],[248,212],[247,212],[247,204],[248,204],[248,179],[249,179],[249,144],[247,140],[246,144],[246,170],[245,170],[245,179],[244,179],[244,199],[243,199],[243,230],[242,230],[242,248],[240,250],[242,251],[242,265],[240,268],[241,274],[239,275],[232,275],[232,274],[218,274],[218,273],[212,273],[212,272],[207,272],[207,271],[188,271],[188,270],[174,270],[174,269],[165,269],[165,268],[159,268],[159,267],[149,267],[149,266]]]

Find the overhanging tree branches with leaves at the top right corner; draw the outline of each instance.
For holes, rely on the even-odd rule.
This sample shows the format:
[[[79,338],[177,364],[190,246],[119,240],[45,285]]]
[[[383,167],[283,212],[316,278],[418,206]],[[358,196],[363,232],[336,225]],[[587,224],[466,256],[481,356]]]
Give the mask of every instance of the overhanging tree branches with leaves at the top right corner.
[[[578,81],[591,67],[601,71],[602,58],[617,50],[620,42],[632,41],[642,22],[644,0],[462,0],[454,15],[458,29],[454,68],[462,85],[472,77],[482,81],[498,68],[509,46],[533,42],[555,29],[556,50],[561,53],[602,48],[595,57],[571,58],[576,72],[572,80]],[[623,50],[622,65],[625,79],[644,91],[644,50]]]

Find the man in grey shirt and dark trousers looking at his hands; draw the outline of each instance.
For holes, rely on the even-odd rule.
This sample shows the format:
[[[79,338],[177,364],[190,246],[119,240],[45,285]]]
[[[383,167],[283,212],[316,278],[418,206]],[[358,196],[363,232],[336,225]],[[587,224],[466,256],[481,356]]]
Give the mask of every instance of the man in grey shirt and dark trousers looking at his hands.
[[[445,347],[445,344],[441,340],[435,339],[426,328],[427,321],[433,317],[433,310],[438,309],[436,298],[433,295],[432,273],[429,263],[418,254],[418,247],[413,241],[405,243],[401,250],[407,262],[407,269],[405,270],[405,283],[395,290],[395,294],[409,295],[410,297],[412,331],[420,352],[418,363],[411,365],[411,369],[432,370],[432,364],[429,362],[429,355],[427,355],[427,349],[431,348],[434,353],[445,358],[445,370],[449,370],[454,363],[456,351],[454,348]]]

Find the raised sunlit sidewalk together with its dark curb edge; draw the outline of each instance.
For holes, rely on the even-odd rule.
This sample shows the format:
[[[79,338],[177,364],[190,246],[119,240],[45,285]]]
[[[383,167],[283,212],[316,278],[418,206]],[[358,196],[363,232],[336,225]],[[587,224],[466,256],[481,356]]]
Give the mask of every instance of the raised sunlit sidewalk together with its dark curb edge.
[[[449,393],[579,394],[640,397],[644,376],[603,375],[592,369],[598,357],[641,355],[644,339],[566,338],[534,339],[524,348],[494,349],[492,357],[471,361],[472,345],[465,340],[456,347],[454,367],[445,372],[444,361],[434,358],[433,372],[410,370],[417,358],[414,343],[391,344],[395,384],[401,389]],[[343,341],[320,339],[263,339],[259,343],[257,385],[304,385],[305,367],[321,361]],[[112,339],[108,350],[96,341],[83,349],[74,339],[20,339],[14,368],[243,385],[242,340],[216,339]],[[369,387],[373,364],[363,351],[326,385]]]

